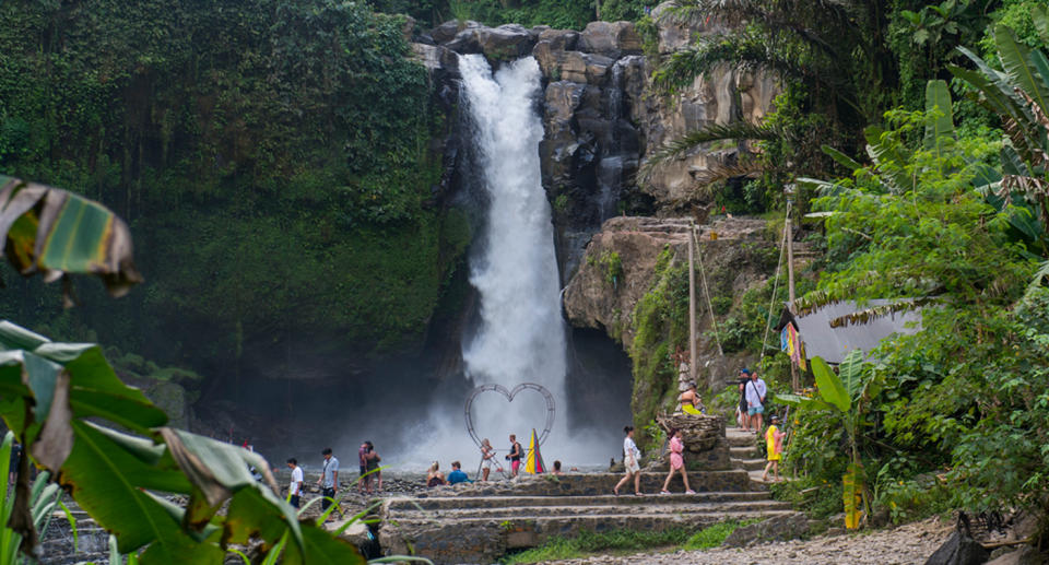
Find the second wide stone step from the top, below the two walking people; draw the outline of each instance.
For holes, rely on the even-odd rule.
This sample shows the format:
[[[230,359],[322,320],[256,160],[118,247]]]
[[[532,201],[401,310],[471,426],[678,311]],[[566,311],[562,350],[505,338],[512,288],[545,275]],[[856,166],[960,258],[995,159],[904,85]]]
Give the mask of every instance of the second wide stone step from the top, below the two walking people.
[[[675,484],[676,483],[676,484]],[[680,479],[671,481],[675,492],[671,495],[659,495],[660,499],[670,498],[683,504],[697,503],[742,503],[764,502],[770,499],[767,492],[719,492],[684,494],[681,492]],[[653,491],[648,494],[656,496]],[[467,510],[474,508],[527,508],[542,506],[625,506],[651,504],[650,496],[634,496],[633,492],[624,489],[621,496],[611,494],[596,496],[439,496],[428,498],[392,498],[386,503],[391,511],[401,510]]]

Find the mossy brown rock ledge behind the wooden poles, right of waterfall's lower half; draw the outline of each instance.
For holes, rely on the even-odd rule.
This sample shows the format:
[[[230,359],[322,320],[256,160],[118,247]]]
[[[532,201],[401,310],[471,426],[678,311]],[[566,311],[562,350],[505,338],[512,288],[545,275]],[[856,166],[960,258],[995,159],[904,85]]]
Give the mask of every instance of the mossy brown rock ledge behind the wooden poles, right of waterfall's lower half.
[[[609,220],[587,246],[587,260],[565,291],[565,311],[574,326],[603,330],[629,354],[630,403],[638,428],[673,409],[679,393],[674,354],[688,358],[688,226],[686,219]],[[697,380],[702,389],[720,391],[726,379],[754,361],[749,352],[759,351],[765,325],[754,320],[767,319],[773,302],[778,238],[775,228],[755,219],[720,219],[698,233],[703,271],[697,260]],[[611,256],[618,257],[622,272],[614,282],[601,260]],[[786,292],[781,284],[774,309]],[[718,352],[718,339],[724,355]]]

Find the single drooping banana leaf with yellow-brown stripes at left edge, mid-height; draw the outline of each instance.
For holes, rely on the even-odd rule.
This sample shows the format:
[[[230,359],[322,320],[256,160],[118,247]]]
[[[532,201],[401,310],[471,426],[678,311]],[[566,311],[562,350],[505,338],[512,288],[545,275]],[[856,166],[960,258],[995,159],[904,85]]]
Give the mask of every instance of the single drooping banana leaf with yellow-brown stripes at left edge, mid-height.
[[[142,282],[123,220],[60,188],[0,175],[0,240],[25,276],[42,273],[51,282],[67,273],[94,274],[113,296]]]

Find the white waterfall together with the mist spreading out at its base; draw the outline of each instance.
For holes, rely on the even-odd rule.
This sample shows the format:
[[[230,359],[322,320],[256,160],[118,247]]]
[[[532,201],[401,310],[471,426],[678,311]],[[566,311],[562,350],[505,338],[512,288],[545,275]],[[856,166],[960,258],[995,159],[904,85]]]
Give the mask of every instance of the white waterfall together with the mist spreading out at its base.
[[[480,464],[480,450],[463,417],[471,390],[486,384],[512,390],[535,382],[552,393],[557,410],[550,437],[542,445],[546,464],[555,459],[566,468],[606,464],[609,457],[620,451],[620,420],[628,421],[629,413],[615,401],[579,410],[580,402],[600,402],[598,399],[608,399],[617,390],[612,373],[591,373],[598,380],[605,379],[597,385],[606,389],[604,393],[592,388],[577,390],[578,398],[568,402],[567,325],[561,314],[554,228],[540,169],[539,64],[527,57],[493,73],[484,57],[464,55],[459,58],[459,71],[460,107],[467,114],[464,127],[472,145],[472,158],[460,166],[469,172],[472,190],[483,202],[483,220],[470,255],[478,311],[462,340],[462,378],[444,380],[435,390],[405,391],[429,401],[419,414],[420,421],[404,422],[400,442],[404,451],[387,461],[422,470],[433,460],[446,469],[449,461],[458,459],[472,476]],[[576,365],[579,358],[574,361]],[[615,398],[628,395],[615,393],[620,395]],[[569,417],[570,407],[579,410],[575,417]],[[508,471],[504,461],[508,436],[516,434],[528,449],[532,428],[543,432],[546,404],[543,396],[532,390],[522,390],[510,402],[498,392],[483,392],[474,399],[471,414],[475,433],[491,439],[498,462]]]

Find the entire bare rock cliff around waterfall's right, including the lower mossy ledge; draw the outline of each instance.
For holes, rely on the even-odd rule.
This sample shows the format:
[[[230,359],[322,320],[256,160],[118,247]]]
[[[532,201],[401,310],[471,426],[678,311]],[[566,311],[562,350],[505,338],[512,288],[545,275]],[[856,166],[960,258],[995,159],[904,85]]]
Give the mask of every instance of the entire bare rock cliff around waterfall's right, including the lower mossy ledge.
[[[663,10],[655,11],[657,20]],[[682,345],[680,336],[677,343],[663,336],[660,352],[649,352],[658,348],[648,344],[644,353],[633,351],[635,311],[665,279],[658,262],[669,260],[680,273],[687,263],[691,222],[707,221],[711,202],[695,190],[696,176],[714,163],[733,163],[750,148],[702,148],[662,167],[645,186],[635,180],[638,167],[667,141],[705,125],[759,122],[778,93],[770,76],[732,69],[699,76],[671,95],[653,92],[650,78],[661,57],[718,32],[723,30],[716,23],[659,24],[643,37],[629,22],[594,22],[581,32],[448,22],[413,35],[413,50],[445,101],[458,99],[460,54],[481,54],[493,68],[528,55],[538,61],[543,92],[537,105],[545,129],[539,152],[554,211],[565,311],[573,326],[603,331],[634,356],[635,423],[647,424],[662,399],[676,395],[675,384],[662,382],[652,367],[667,362],[660,357],[667,348]],[[704,225],[699,239],[710,292],[722,308],[765,283],[769,255],[775,267],[776,242],[766,237],[764,221],[721,220]],[[672,292],[680,294],[680,281],[674,285]],[[700,307],[697,315],[704,334],[710,308]],[[711,338],[703,337],[699,345],[698,373],[714,386],[745,361],[719,354]],[[647,369],[638,368],[639,355],[650,357],[640,362]]]

